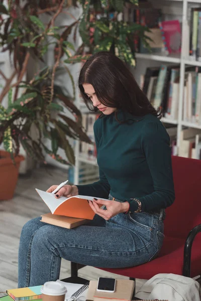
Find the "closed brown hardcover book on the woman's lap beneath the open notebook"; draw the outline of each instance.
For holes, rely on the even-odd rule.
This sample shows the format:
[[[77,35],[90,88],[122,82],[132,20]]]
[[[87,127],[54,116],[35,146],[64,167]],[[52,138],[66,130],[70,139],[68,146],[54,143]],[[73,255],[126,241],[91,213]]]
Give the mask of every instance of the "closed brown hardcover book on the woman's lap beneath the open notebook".
[[[89,220],[82,219],[82,218],[67,217],[62,215],[55,215],[52,213],[43,214],[41,216],[42,216],[41,222],[63,227],[66,229],[72,229],[77,226],[87,224],[89,222]]]

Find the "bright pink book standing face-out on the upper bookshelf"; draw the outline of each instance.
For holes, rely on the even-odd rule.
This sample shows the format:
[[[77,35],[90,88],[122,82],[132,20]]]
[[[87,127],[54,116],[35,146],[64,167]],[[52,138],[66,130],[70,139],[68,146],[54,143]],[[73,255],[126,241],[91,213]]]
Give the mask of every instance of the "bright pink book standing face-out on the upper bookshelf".
[[[170,53],[181,52],[181,27],[178,20],[159,22],[165,50]]]

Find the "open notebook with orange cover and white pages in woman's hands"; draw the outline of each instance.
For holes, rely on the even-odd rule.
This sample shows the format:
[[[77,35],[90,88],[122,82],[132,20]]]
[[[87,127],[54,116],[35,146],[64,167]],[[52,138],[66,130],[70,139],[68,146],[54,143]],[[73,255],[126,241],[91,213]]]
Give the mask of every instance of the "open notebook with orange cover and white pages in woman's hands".
[[[54,194],[39,189],[36,189],[36,191],[49,207],[52,214],[89,220],[92,220],[95,215],[88,204],[88,200],[92,201],[93,197],[77,195],[70,198],[60,197],[59,199],[56,199]],[[98,197],[96,197],[96,199],[98,199]]]

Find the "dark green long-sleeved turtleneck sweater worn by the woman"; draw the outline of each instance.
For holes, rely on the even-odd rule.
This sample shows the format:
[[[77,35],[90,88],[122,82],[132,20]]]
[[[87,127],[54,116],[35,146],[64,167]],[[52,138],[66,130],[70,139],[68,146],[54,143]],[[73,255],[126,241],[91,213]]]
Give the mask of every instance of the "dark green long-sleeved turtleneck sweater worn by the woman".
[[[98,118],[94,123],[99,181],[77,185],[80,195],[128,201],[130,211],[154,211],[174,201],[169,135],[152,114],[133,116],[118,112]]]

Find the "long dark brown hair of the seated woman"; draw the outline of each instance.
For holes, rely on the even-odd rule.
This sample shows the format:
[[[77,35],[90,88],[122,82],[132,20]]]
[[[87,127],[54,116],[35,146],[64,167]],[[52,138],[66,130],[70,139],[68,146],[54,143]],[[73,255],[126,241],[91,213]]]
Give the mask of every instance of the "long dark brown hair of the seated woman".
[[[153,114],[161,118],[160,109],[156,110],[151,105],[125,63],[111,52],[101,51],[92,55],[79,74],[78,86],[83,100],[89,110],[97,111],[84,93],[84,83],[93,86],[98,100],[107,107],[121,109],[135,116]]]

